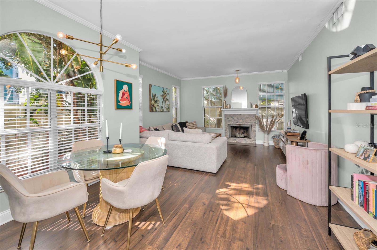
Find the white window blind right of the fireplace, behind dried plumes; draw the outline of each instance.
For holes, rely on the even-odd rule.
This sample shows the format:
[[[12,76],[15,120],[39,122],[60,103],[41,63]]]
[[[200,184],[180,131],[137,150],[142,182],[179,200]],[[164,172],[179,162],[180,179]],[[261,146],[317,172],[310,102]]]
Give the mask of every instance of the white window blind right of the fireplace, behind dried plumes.
[[[273,130],[284,130],[285,81],[258,83],[258,105],[259,117],[263,116],[264,121],[282,116]]]

